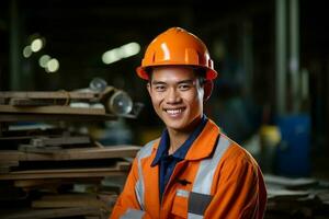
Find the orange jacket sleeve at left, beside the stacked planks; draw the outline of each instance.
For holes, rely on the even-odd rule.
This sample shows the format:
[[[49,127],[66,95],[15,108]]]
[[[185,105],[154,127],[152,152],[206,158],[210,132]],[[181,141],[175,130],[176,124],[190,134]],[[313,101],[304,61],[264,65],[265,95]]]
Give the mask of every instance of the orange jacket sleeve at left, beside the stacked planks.
[[[131,172],[127,176],[125,186],[121,195],[118,196],[116,204],[112,210],[111,219],[117,219],[124,215],[127,209],[137,209],[139,210],[139,204],[135,195],[135,185],[138,180],[138,166],[137,159],[135,158]]]

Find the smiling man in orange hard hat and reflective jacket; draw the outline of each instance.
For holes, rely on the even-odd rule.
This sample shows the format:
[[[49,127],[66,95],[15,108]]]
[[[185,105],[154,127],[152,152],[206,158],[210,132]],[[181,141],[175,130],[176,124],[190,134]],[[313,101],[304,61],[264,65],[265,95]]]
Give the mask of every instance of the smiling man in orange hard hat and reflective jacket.
[[[257,162],[203,114],[217,77],[203,42],[169,28],[137,74],[167,128],[138,152],[111,218],[263,218]]]

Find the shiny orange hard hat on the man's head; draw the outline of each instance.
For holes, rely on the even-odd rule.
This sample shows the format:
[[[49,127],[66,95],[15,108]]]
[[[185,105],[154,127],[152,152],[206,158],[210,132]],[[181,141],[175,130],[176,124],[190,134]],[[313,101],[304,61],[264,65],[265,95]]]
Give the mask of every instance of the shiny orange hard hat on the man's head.
[[[147,68],[157,66],[192,66],[206,70],[206,80],[217,77],[205,44],[181,27],[171,27],[158,35],[147,47],[137,74],[148,80]]]

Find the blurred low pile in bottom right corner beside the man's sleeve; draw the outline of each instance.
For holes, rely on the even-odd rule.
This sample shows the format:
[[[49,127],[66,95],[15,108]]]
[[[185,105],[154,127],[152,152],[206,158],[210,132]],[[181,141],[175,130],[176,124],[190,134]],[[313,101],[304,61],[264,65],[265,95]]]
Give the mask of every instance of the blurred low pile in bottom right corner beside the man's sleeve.
[[[315,178],[265,175],[265,219],[329,218],[329,183]]]

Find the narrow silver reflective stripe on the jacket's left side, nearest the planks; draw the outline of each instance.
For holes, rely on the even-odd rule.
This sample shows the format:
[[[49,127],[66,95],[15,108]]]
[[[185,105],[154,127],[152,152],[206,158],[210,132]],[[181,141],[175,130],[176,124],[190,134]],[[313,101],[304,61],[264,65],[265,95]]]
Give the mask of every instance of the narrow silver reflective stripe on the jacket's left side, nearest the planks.
[[[148,142],[146,146],[144,146],[140,151],[137,154],[137,164],[138,164],[138,181],[136,182],[135,185],[135,193],[140,206],[140,209],[145,209],[144,208],[144,194],[145,194],[145,186],[144,186],[144,177],[143,177],[143,169],[141,169],[141,162],[140,160],[143,158],[146,158],[148,155],[151,154],[152,152],[152,146],[154,146],[154,141]]]

